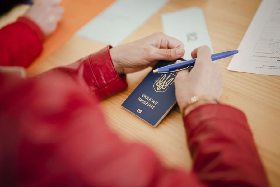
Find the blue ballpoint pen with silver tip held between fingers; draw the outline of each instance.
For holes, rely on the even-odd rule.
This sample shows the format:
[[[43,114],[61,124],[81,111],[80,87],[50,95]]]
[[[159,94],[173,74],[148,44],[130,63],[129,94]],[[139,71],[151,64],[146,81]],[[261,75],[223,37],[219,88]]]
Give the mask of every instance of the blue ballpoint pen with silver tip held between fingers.
[[[216,53],[216,54],[212,54],[211,55],[211,59],[214,60],[218,60],[221,58],[226,58],[229,57],[231,55],[234,55],[236,53],[238,53],[239,51],[226,51],[226,52],[222,52],[222,53]],[[154,73],[171,73],[171,72],[177,72],[177,71],[181,71],[183,69],[187,69],[189,67],[193,67],[194,63],[195,63],[196,58],[191,59],[191,60],[186,60],[180,63],[175,63],[175,64],[171,64],[168,66],[163,66],[161,68],[157,68],[155,70],[153,70]]]

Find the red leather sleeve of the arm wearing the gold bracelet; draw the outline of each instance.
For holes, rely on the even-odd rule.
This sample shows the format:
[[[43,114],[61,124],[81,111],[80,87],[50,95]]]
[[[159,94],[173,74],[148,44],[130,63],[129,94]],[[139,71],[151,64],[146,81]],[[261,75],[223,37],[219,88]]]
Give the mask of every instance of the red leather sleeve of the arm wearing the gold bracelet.
[[[209,186],[259,186],[268,181],[243,112],[203,105],[185,118],[194,173]]]

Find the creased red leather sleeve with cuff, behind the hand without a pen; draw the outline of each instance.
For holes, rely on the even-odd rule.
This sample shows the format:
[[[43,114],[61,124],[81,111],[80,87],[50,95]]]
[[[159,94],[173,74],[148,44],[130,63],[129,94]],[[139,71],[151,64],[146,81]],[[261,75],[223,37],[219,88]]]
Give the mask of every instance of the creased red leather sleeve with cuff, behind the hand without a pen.
[[[87,93],[102,100],[127,87],[126,76],[120,77],[112,62],[107,46],[100,51],[68,66],[51,69],[40,76],[65,74],[82,85]]]

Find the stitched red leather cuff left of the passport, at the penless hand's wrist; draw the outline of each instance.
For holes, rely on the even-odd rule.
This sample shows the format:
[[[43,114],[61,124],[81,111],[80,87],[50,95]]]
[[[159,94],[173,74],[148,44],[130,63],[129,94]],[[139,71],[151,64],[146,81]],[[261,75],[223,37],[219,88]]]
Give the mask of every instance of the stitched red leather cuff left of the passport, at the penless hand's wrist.
[[[127,87],[126,75],[120,77],[114,67],[109,52],[111,48],[112,46],[109,45],[89,56],[91,69],[99,86],[98,95],[102,98],[111,96]]]

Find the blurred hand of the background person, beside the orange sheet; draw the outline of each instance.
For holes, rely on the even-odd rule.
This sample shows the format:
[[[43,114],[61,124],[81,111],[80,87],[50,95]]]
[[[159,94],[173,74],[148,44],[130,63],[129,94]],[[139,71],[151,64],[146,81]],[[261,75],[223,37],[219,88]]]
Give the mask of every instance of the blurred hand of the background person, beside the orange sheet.
[[[35,2],[24,14],[34,21],[48,36],[57,28],[61,20],[64,8],[59,6],[61,0],[40,0]]]

